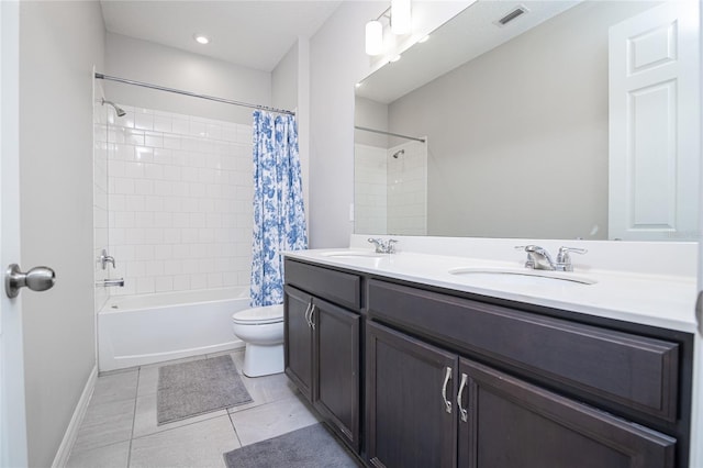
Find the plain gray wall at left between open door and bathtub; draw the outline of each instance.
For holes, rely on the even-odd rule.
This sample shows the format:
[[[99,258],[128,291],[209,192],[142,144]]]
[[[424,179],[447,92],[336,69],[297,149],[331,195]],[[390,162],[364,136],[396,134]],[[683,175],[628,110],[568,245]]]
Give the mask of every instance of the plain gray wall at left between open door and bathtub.
[[[21,266],[57,275],[22,293],[29,465],[46,467],[96,365],[91,96],[104,29],[97,1],[20,8]]]

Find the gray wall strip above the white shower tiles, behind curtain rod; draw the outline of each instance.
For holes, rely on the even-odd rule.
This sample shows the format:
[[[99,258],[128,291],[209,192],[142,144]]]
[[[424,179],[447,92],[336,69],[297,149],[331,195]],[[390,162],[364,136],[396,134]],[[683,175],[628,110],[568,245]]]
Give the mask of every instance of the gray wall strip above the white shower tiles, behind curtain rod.
[[[120,34],[107,35],[104,73],[201,94],[271,105],[271,75],[267,71]],[[127,105],[252,124],[253,109],[170,92],[105,81],[105,96],[111,101]]]

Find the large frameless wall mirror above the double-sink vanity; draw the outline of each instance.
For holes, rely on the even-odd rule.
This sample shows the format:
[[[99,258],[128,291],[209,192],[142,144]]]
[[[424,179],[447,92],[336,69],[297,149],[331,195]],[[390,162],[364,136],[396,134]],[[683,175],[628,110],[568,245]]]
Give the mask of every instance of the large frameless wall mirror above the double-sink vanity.
[[[400,62],[365,79],[356,92],[355,124],[426,138],[426,193],[424,200],[419,190],[412,197],[393,198],[395,181],[415,180],[421,171],[409,172],[415,169],[414,161],[401,166],[402,156],[392,156],[406,149],[403,145],[419,142],[357,130],[355,232],[698,239],[698,105],[690,105],[694,108],[691,118],[682,120],[681,101],[672,100],[665,85],[628,90],[623,102],[632,104],[624,104],[618,113],[625,113],[634,127],[623,132],[633,134],[623,133],[622,148],[613,146],[617,143],[613,142],[617,140],[614,122],[623,115],[613,114],[613,69],[617,67],[609,66],[609,59],[618,57],[620,43],[609,40],[609,33],[617,37],[613,31],[655,31],[621,42],[639,47],[635,60],[651,58],[654,65],[645,64],[643,70],[661,68],[671,59],[657,55],[667,51],[660,41],[670,41],[670,35],[658,33],[657,25],[643,26],[661,3],[477,2],[435,31],[428,42],[404,53]],[[499,26],[498,20],[518,4],[527,13]],[[689,29],[695,30],[694,36],[695,8],[694,26]],[[654,15],[661,19],[659,11]],[[662,27],[670,31],[666,24]],[[677,45],[685,48],[687,41],[683,37]],[[682,60],[684,55],[676,58]],[[627,59],[623,54],[623,63]],[[690,69],[698,70],[698,62]],[[417,82],[420,76],[422,82]],[[698,75],[690,78],[698,83]],[[683,102],[699,102],[696,90],[684,89],[687,79],[667,78],[672,79],[679,80],[679,93],[689,92]],[[672,137],[673,124],[679,126]],[[680,140],[687,132],[693,138]],[[661,151],[644,154],[639,146],[633,148],[632,142],[643,135],[648,135],[647,144],[639,146]],[[670,153],[671,147],[679,149]],[[620,172],[613,169],[618,160],[624,167]],[[422,183],[417,181],[413,189]],[[413,211],[401,203],[417,207]],[[414,218],[422,203],[424,225],[420,216],[415,224],[399,221]],[[613,221],[614,213],[622,222]],[[614,231],[621,224],[625,227]]]

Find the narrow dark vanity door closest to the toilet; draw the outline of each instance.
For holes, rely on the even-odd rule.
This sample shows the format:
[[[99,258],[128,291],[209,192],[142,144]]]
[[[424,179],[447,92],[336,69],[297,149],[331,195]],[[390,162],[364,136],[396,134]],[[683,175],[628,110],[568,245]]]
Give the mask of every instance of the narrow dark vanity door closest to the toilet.
[[[283,299],[283,342],[286,375],[312,401],[312,327],[308,322],[312,297],[286,287]]]

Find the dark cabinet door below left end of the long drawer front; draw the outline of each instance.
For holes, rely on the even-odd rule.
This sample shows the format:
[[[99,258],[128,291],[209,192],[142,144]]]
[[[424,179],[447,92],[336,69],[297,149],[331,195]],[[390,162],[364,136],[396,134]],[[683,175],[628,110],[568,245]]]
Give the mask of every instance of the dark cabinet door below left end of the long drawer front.
[[[372,322],[366,332],[369,461],[389,468],[455,466],[457,355]]]

